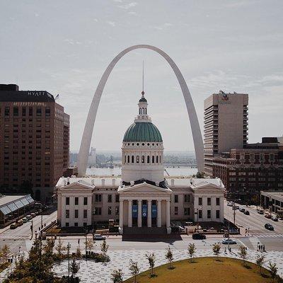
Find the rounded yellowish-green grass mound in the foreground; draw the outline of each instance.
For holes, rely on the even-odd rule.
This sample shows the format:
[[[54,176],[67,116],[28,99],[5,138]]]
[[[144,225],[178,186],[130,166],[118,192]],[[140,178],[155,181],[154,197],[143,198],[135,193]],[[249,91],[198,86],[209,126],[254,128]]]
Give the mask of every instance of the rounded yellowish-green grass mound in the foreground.
[[[272,279],[267,270],[262,268],[262,274],[257,265],[247,262],[244,267],[241,260],[232,258],[195,258],[173,262],[174,269],[168,265],[154,268],[157,277],[150,277],[150,270],[137,276],[139,283],[270,283]],[[134,282],[133,278],[125,280],[126,283]]]

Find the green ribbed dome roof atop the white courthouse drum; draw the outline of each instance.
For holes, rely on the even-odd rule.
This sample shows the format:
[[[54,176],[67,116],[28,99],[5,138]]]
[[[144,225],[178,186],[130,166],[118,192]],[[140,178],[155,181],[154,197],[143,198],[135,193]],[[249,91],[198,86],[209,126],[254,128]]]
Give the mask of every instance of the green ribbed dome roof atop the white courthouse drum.
[[[125,132],[123,141],[162,142],[161,133],[151,122],[134,122]]]

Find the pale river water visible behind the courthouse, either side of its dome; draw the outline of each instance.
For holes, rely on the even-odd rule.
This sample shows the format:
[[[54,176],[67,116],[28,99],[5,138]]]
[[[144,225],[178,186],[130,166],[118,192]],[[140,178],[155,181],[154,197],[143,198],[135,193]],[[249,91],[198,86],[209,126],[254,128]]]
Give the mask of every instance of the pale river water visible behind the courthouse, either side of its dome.
[[[190,176],[197,173],[197,168],[191,168],[189,166],[165,166],[166,171],[171,176]],[[121,167],[114,168],[87,168],[87,175],[98,175],[98,176],[112,176],[121,175]],[[166,176],[166,172],[164,172]]]

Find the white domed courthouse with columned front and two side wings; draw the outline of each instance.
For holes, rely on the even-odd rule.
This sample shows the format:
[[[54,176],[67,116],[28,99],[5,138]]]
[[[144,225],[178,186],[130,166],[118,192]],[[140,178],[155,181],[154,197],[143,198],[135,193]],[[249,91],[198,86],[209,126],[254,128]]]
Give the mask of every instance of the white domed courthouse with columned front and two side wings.
[[[171,233],[173,220],[224,221],[220,179],[164,178],[163,139],[141,94],[138,115],[122,141],[121,178],[60,178],[61,226],[115,219],[120,233]]]

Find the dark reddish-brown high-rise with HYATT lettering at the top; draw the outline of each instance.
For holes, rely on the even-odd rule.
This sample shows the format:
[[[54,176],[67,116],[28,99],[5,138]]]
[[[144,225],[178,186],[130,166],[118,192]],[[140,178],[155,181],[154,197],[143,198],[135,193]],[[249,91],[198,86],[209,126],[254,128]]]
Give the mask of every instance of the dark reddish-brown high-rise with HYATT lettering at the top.
[[[0,84],[0,187],[29,181],[35,199],[49,201],[69,167],[69,115],[47,91]]]

